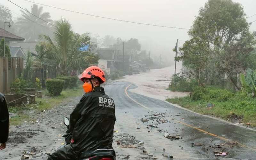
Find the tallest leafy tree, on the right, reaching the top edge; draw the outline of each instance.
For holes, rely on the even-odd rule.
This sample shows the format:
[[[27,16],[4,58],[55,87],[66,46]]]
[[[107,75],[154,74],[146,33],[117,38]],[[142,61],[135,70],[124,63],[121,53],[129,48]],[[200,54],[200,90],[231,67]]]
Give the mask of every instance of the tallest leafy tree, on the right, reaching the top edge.
[[[208,47],[210,58],[206,64],[214,66],[212,77],[219,75],[220,79],[226,74],[236,88],[240,89],[237,85],[238,75],[246,68],[245,63],[241,62],[250,56],[255,44],[241,4],[231,0],[208,0],[199,10],[188,34],[191,39],[198,39]],[[197,52],[193,50],[192,47],[188,51]]]

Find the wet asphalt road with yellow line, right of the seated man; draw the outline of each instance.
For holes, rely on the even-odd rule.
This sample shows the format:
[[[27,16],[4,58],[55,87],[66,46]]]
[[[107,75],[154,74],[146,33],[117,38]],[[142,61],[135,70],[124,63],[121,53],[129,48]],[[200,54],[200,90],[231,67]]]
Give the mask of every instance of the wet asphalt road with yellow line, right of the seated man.
[[[143,141],[145,149],[158,159],[166,159],[162,154],[172,155],[174,159],[256,159],[255,131],[129,92],[135,88],[128,82],[105,87],[116,104],[115,130]],[[153,118],[140,121],[149,117]],[[180,139],[169,140],[164,137],[165,132]],[[228,152],[228,156],[217,157],[213,151]],[[133,153],[136,154],[130,152]]]

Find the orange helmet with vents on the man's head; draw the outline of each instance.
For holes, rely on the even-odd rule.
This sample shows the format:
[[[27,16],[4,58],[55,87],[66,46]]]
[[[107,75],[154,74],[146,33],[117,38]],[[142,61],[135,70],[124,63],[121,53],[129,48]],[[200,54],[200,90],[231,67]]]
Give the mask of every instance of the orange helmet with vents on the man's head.
[[[91,79],[94,77],[98,77],[101,80],[100,84],[106,82],[105,73],[103,72],[102,69],[100,69],[97,66],[92,66],[92,67],[86,68],[84,70],[84,72],[78,77],[80,78],[81,81],[83,81],[84,78]]]

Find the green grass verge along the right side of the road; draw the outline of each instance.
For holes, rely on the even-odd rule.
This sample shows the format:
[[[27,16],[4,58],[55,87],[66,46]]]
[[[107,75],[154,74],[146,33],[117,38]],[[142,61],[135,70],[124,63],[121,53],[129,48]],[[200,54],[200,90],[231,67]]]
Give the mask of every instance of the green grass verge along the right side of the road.
[[[244,123],[251,123],[256,126],[256,99],[252,97],[243,97],[235,94],[227,101],[211,100],[192,100],[189,96],[184,98],[167,99],[172,104],[178,104],[181,107],[188,108],[194,112],[204,115],[220,117],[232,121],[232,115],[237,115]],[[214,107],[207,108],[207,104],[214,104]]]

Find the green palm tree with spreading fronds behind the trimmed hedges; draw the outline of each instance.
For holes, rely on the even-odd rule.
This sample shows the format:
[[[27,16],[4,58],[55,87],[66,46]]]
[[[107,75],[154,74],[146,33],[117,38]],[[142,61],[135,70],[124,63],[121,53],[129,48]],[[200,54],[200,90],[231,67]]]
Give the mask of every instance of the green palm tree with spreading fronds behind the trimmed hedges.
[[[51,59],[56,62],[57,71],[61,75],[67,76],[68,71],[74,69],[77,64],[88,64],[95,60],[93,56],[84,56],[84,52],[80,50],[81,46],[89,44],[89,40],[86,38],[86,34],[73,33],[68,20],[61,18],[56,23],[55,41],[52,41],[49,36],[41,35],[41,39],[44,40],[41,44],[50,53]]]

